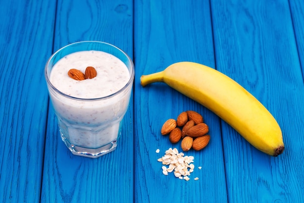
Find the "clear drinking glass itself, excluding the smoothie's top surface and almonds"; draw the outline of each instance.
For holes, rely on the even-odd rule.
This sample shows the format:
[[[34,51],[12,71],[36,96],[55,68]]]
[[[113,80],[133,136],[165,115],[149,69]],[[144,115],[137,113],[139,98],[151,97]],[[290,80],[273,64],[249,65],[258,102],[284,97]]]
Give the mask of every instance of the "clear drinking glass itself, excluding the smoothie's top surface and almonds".
[[[102,51],[116,56],[128,68],[130,79],[127,84],[100,98],[78,98],[58,90],[50,81],[52,68],[60,59],[81,51]],[[132,59],[118,47],[105,42],[76,42],[51,55],[45,67],[45,78],[62,141],[73,154],[96,158],[116,148],[122,119],[129,106],[134,75]]]

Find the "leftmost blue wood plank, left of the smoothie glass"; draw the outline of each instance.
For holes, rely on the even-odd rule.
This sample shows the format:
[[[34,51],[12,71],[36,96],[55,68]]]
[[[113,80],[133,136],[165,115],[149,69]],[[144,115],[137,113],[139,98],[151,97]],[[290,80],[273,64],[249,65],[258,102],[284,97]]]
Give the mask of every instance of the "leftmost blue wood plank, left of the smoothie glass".
[[[54,1],[0,1],[0,202],[40,202]]]

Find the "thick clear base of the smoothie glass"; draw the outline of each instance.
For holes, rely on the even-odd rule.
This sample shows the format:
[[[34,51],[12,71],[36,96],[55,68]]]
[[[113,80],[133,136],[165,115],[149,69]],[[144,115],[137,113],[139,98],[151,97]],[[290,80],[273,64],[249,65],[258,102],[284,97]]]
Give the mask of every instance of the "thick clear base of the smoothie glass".
[[[83,148],[69,143],[68,139],[63,134],[61,134],[61,139],[74,155],[90,158],[97,158],[111,151],[114,151],[117,146],[117,140],[114,140],[111,143],[100,148]]]

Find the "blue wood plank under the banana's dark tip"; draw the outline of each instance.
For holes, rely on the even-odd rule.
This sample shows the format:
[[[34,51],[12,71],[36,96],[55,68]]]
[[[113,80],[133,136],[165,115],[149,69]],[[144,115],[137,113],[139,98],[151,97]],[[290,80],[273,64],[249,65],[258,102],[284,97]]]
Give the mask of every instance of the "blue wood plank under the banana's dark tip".
[[[285,151],[270,157],[222,123],[229,202],[304,202],[304,86],[287,0],[212,0],[216,67],[277,119]],[[301,34],[301,33],[296,33]]]

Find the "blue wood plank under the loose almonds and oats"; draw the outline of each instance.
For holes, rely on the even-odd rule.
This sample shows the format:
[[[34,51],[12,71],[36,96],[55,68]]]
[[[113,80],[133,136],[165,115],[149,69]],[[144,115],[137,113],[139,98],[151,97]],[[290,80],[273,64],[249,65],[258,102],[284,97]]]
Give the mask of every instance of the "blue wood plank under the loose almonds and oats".
[[[220,119],[165,84],[140,86],[142,74],[179,61],[215,67],[208,1],[135,0],[135,202],[227,202]],[[188,182],[173,173],[163,175],[157,162],[168,148],[182,151],[180,143],[171,144],[160,129],[167,119],[187,110],[203,115],[211,136],[203,151],[185,152],[195,157],[196,166]],[[155,153],[157,148],[160,153]]]

